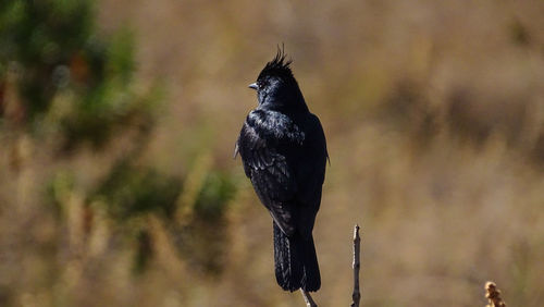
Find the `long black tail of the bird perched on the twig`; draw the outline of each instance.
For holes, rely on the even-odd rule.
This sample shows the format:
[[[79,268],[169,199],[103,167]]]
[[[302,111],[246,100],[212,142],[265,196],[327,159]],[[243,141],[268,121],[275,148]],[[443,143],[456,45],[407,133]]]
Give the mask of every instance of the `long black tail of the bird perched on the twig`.
[[[274,222],[275,279],[283,290],[318,291],[321,286],[318,256],[313,237],[302,238],[299,233],[288,237]]]

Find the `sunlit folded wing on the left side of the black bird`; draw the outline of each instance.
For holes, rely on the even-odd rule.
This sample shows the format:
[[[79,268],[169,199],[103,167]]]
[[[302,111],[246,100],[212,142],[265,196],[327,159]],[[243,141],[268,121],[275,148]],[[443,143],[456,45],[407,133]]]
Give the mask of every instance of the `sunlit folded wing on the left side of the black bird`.
[[[302,139],[304,133],[287,116],[262,110],[249,113],[238,139],[246,175],[287,235],[296,228],[294,202],[297,193],[289,154],[301,146]]]

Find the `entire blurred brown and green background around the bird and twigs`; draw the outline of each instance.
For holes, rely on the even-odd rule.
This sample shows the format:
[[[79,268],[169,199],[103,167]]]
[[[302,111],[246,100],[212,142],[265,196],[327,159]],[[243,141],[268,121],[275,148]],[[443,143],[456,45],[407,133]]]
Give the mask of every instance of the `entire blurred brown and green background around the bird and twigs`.
[[[304,306],[234,143],[285,44],[320,306],[544,300],[544,2],[0,2],[0,306]]]

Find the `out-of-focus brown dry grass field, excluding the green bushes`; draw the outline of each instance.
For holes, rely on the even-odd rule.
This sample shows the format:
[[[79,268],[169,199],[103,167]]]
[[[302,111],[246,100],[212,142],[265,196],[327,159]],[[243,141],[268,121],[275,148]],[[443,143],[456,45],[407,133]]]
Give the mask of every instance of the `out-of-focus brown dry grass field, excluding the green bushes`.
[[[100,210],[85,218],[86,187],[124,136],[54,163],[25,136],[0,145],[0,305],[304,306],[275,283],[270,216],[232,159],[256,106],[247,85],[282,42],[331,157],[317,303],[350,303],[359,223],[363,306],[483,306],[487,280],[508,305],[543,305],[544,2],[101,0],[97,10],[104,34],[134,34],[138,84],[163,83],[141,160],[186,177],[178,201],[203,172],[236,179],[225,221],[188,247],[224,241],[221,265],[194,265],[213,249],[184,257],[144,216],[153,257],[135,274],[138,247]],[[61,195],[62,219],[40,200],[58,168],[78,170],[81,186]]]

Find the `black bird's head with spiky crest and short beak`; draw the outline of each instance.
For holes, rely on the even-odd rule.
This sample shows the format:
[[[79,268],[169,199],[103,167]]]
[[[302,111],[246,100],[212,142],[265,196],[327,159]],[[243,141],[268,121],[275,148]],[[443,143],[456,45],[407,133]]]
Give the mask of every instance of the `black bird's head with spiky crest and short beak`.
[[[267,63],[249,88],[257,90],[259,106],[281,111],[305,109],[306,102],[298,83],[290,71],[292,60],[286,60],[283,49],[277,48],[274,59]]]

